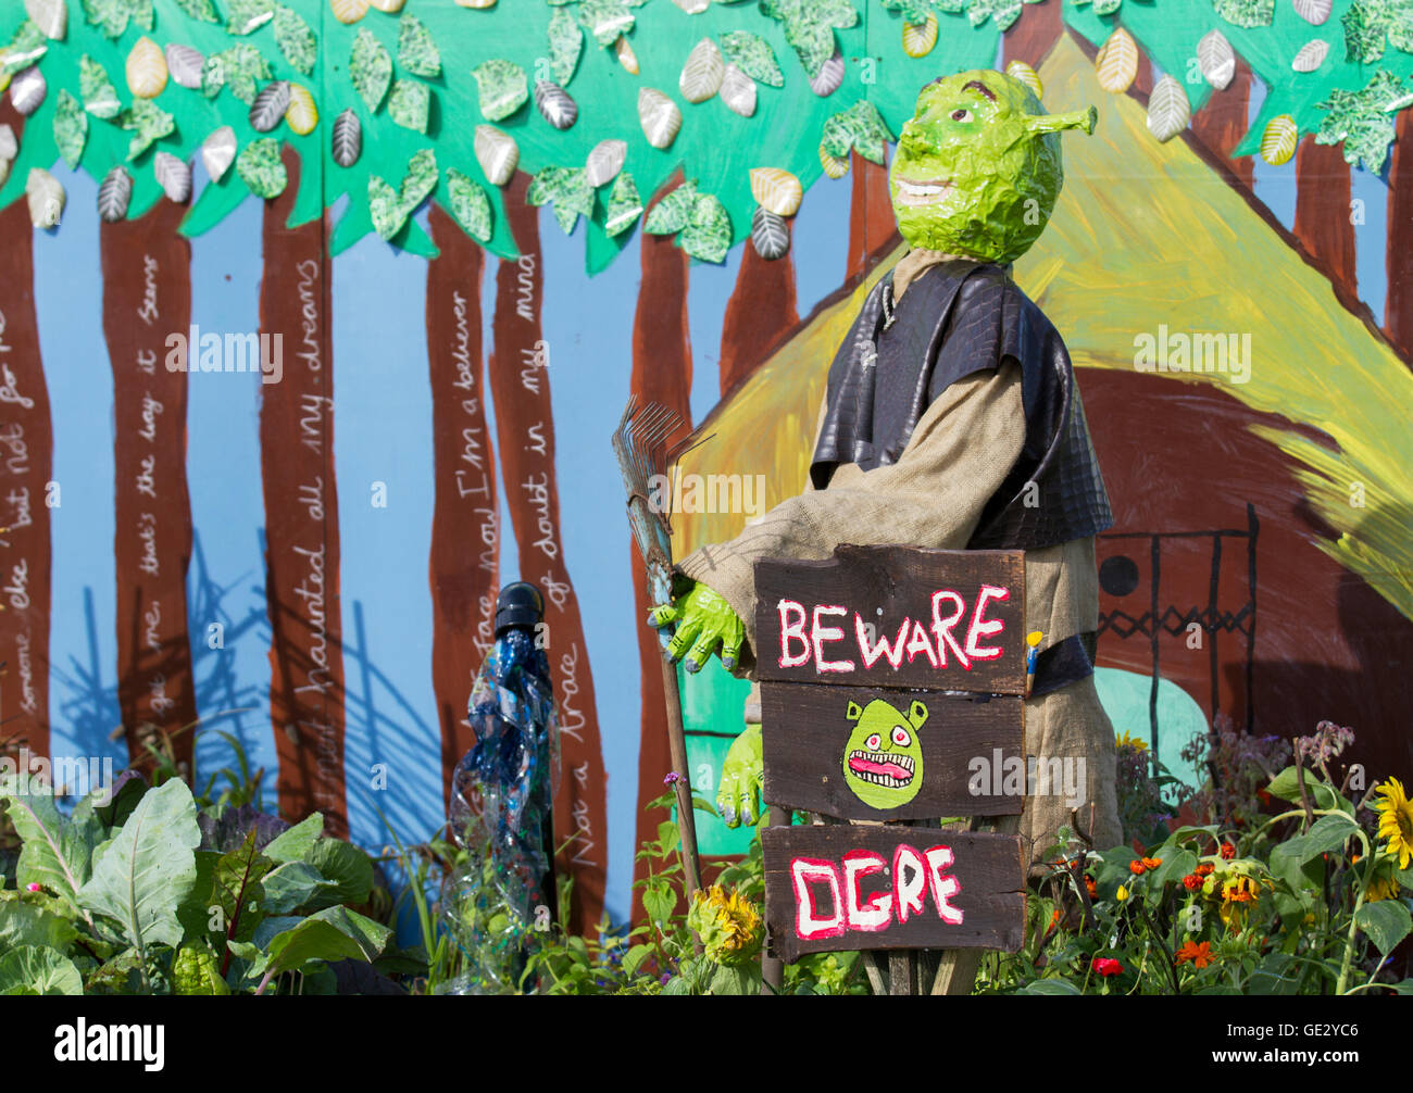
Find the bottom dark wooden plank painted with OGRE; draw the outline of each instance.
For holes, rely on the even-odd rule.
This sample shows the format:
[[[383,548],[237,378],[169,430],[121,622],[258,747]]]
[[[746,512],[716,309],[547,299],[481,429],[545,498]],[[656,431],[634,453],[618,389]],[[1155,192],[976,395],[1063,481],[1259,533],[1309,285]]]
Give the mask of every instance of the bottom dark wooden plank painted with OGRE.
[[[770,950],[786,962],[855,949],[1016,952],[1024,940],[1019,836],[818,825],[769,828],[762,846]]]

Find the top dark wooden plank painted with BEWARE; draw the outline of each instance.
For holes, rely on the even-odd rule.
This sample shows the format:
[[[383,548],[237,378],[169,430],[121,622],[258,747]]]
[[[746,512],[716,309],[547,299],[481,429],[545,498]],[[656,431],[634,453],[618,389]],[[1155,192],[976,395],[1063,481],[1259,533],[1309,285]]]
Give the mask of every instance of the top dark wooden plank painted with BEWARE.
[[[1024,552],[838,546],[756,562],[760,679],[1026,691]]]

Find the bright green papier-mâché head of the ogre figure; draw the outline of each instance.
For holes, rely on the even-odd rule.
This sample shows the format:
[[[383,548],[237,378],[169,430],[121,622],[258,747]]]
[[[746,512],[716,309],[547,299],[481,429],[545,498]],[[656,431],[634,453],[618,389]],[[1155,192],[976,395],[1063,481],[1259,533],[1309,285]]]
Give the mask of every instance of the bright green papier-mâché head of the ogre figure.
[[[899,232],[914,247],[1010,263],[1046,230],[1064,185],[1060,130],[1094,133],[1098,112],[1046,114],[1005,72],[928,83],[889,175]]]

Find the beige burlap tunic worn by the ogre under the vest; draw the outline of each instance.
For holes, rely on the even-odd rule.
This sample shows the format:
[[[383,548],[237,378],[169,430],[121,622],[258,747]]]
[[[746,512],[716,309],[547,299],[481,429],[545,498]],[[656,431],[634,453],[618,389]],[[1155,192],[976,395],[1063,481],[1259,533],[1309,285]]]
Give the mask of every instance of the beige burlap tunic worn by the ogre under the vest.
[[[944,257],[909,254],[894,271],[896,298],[901,299],[923,268]],[[735,539],[702,546],[678,568],[723,596],[745,621],[749,650],[743,650],[740,672],[755,679],[757,558],[822,559],[845,542],[965,549],[983,506],[1020,458],[1024,436],[1020,366],[1007,357],[999,369],[976,371],[947,387],[921,417],[896,463],[868,472],[853,463],[839,465],[827,489],[807,486]],[[1092,538],[1026,554],[1026,631],[1044,634],[1041,650],[1095,630],[1098,613]],[[755,689],[749,720],[759,720]],[[1061,825],[1078,826],[1096,849],[1118,844],[1122,833],[1113,726],[1099,705],[1092,676],[1026,702],[1026,750],[1036,757],[1037,770],[1058,758],[1077,771],[1078,761],[1084,761],[1078,806],[1067,801],[1063,785],[1027,798],[1020,833],[1031,857],[1054,842]]]

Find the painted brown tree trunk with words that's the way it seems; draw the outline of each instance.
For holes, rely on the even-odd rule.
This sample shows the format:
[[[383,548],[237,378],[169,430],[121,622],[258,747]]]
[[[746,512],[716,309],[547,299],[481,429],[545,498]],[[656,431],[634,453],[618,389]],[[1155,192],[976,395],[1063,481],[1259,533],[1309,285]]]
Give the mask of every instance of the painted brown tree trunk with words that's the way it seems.
[[[160,201],[138,220],[103,225],[99,239],[113,369],[117,705],[129,761],[150,768],[147,746],[170,743],[189,777],[194,733],[171,736],[196,720],[187,635],[189,376],[167,370],[168,335],[191,328],[191,244],[177,233],[185,212]]]

